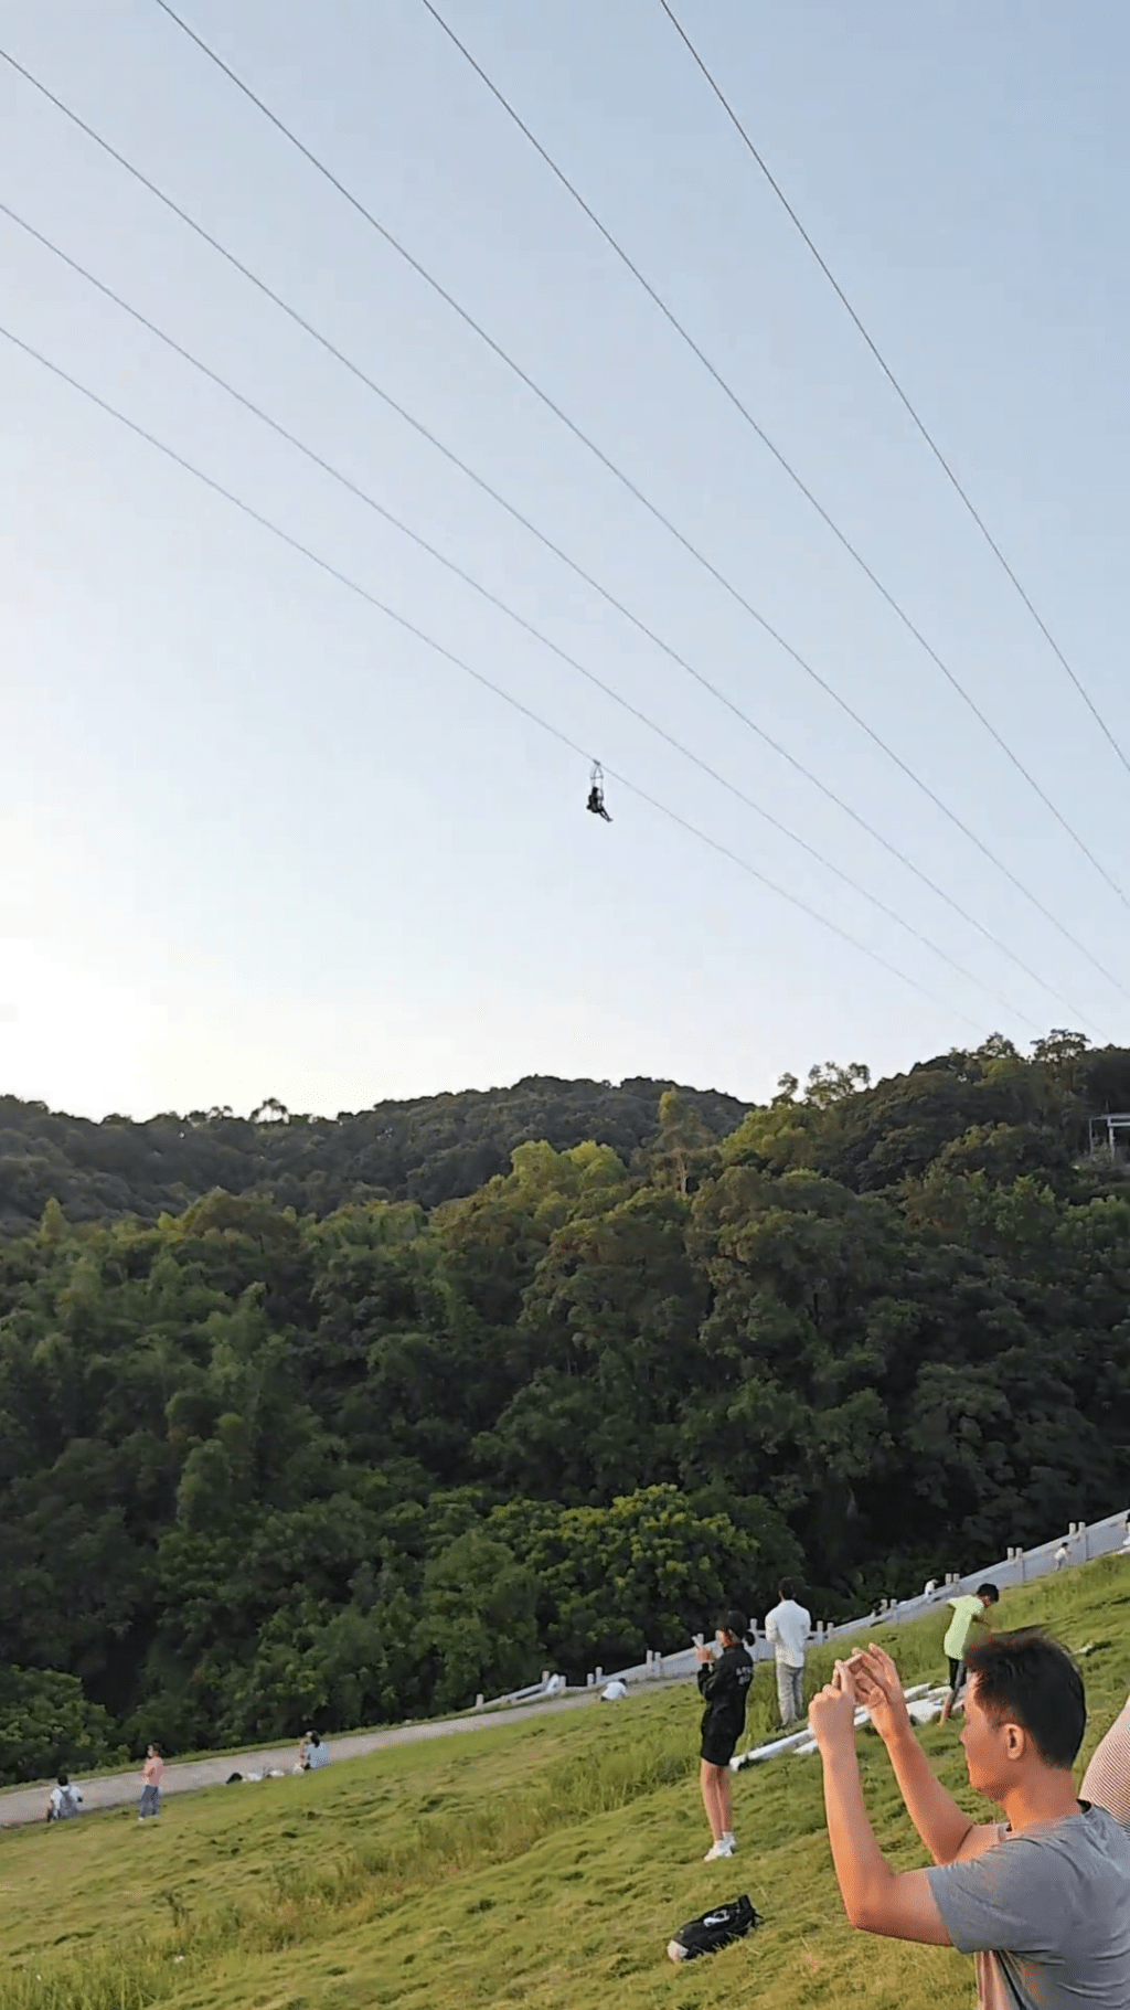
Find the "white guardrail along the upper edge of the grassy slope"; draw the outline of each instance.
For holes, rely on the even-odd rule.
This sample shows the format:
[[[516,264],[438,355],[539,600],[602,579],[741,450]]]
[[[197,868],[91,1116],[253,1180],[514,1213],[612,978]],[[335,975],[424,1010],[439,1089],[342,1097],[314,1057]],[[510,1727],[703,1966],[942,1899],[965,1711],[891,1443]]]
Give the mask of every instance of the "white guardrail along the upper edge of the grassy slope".
[[[917,1598],[889,1598],[879,1608],[865,1612],[861,1618],[844,1620],[840,1626],[816,1624],[808,1634],[808,1646],[822,1646],[824,1640],[846,1640],[851,1634],[865,1632],[877,1624],[901,1626],[907,1620],[921,1620],[927,1612],[943,1606],[947,1598],[957,1598],[961,1592],[975,1592],[979,1584],[995,1584],[1005,1592],[1017,1584],[1048,1578],[1058,1568],[1088,1564],[1096,1556],[1110,1556],[1122,1548],[1130,1554],[1130,1510],[1122,1510],[1122,1514],[1112,1514],[1106,1522],[1092,1522],[1090,1526],[1086,1522],[1072,1522],[1064,1536],[1052,1536],[1050,1542],[1042,1542],[1035,1550],[1009,1550],[1003,1562],[985,1564],[963,1578],[953,1572],[945,1580],[939,1580],[929,1596],[927,1592],[919,1592]],[[764,1634],[758,1632],[756,1640],[750,1642],[750,1654],[754,1660],[772,1660],[772,1646]],[[595,1668],[587,1676],[585,1688],[601,1688],[605,1682],[676,1680],[694,1674],[696,1666],[694,1646],[678,1648],[674,1654],[647,1650],[647,1658],[635,1662],[633,1668],[613,1668],[607,1674],[603,1668]],[[529,1688],[515,1688],[509,1696],[491,1696],[491,1700],[477,1696],[475,1708],[495,1711],[503,1704],[535,1702],[555,1694],[567,1694],[565,1678],[547,1668],[541,1682],[531,1682]],[[575,1688],[571,1694],[581,1694],[581,1690]]]

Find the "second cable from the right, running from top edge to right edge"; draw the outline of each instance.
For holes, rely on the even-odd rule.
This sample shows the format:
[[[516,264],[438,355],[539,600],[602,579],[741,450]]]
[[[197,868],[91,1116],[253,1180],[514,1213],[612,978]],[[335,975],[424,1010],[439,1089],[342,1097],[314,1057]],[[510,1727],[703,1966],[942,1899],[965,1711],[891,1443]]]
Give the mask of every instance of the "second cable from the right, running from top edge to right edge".
[[[157,4],[167,14],[173,12],[171,6],[167,4],[167,0],[157,0]],[[666,6],[666,0],[660,0],[660,4]],[[1021,762],[1019,754],[1015,754],[1015,750],[1009,746],[1009,742],[1003,738],[1003,734],[997,732],[997,728],[993,726],[993,722],[989,720],[989,716],[985,712],[981,712],[977,699],[965,689],[965,685],[955,675],[955,671],[949,669],[949,665],[937,653],[937,649],[933,647],[933,643],[927,641],[927,637],[921,633],[921,629],[911,619],[911,615],[901,605],[901,601],[895,599],[895,595],[889,591],[889,587],[883,583],[883,579],[879,579],[879,575],[875,573],[875,569],[867,563],[867,559],[863,557],[863,553],[859,551],[859,547],[851,543],[851,539],[846,537],[846,533],[830,517],[830,513],[824,509],[824,505],[818,500],[818,496],[808,488],[808,484],[796,472],[796,468],[792,466],[792,462],[782,454],[782,450],[768,436],[768,432],[764,430],[764,426],[754,418],[754,414],[750,412],[750,408],[742,402],[742,398],[738,396],[738,392],[734,390],[734,386],[722,376],[722,372],[716,368],[716,364],[712,364],[712,360],[706,354],[706,350],[694,340],[694,336],[690,334],[690,330],[678,320],[676,312],[668,306],[668,301],[662,297],[662,293],[657,293],[655,287],[651,285],[651,281],[639,271],[639,265],[635,265],[635,261],[629,257],[629,253],[623,249],[623,245],[607,229],[607,225],[601,223],[601,219],[597,217],[595,209],[585,201],[585,197],[575,187],[575,183],[569,181],[569,175],[557,165],[557,161],[553,159],[553,155],[547,153],[547,149],[541,145],[541,141],[537,139],[537,135],[531,133],[531,129],[527,127],[525,119],[515,111],[515,107],[503,94],[503,90],[499,90],[499,84],[487,74],[487,70],[483,68],[483,64],[470,54],[470,50],[466,48],[466,44],[460,42],[458,34],[444,20],[444,16],[440,14],[440,10],[434,4],[434,0],[422,0],[422,6],[428,10],[428,14],[432,16],[432,20],[442,28],[442,32],[446,34],[446,38],[454,44],[454,48],[458,48],[460,56],[466,58],[466,62],[470,64],[470,68],[475,70],[475,74],[487,84],[487,90],[491,92],[491,96],[503,107],[503,111],[513,121],[513,125],[519,129],[519,133],[525,135],[525,139],[529,141],[529,145],[545,161],[545,165],[557,177],[557,181],[561,183],[561,187],[573,197],[573,201],[585,213],[585,217],[589,219],[589,223],[595,225],[595,229],[601,233],[603,241],[609,245],[609,249],[615,253],[615,257],[621,261],[621,265],[625,265],[625,269],[631,273],[631,277],[643,287],[643,291],[647,293],[647,297],[653,301],[653,306],[660,310],[660,314],[670,322],[670,326],[676,330],[676,334],[686,344],[686,348],[698,358],[698,362],[704,366],[704,370],[714,378],[714,382],[718,384],[718,388],[722,390],[722,394],[730,400],[730,404],[734,406],[734,410],[744,418],[744,422],[752,428],[752,432],[756,432],[758,440],[762,442],[762,446],[768,448],[768,452],[772,454],[772,458],[776,460],[776,464],[784,470],[784,474],[788,476],[788,480],[792,482],[792,486],[800,490],[800,494],[804,496],[806,502],[810,502],[810,507],[816,511],[816,515],[820,517],[820,521],[832,533],[832,537],[836,539],[836,543],[849,553],[849,557],[855,561],[855,565],[859,565],[859,569],[871,581],[871,585],[883,595],[883,599],[887,601],[887,605],[891,607],[891,611],[899,617],[899,621],[909,631],[909,635],[913,635],[913,639],[919,643],[919,647],[925,649],[925,653],[929,655],[931,663],[937,665],[937,669],[941,671],[941,675],[945,677],[945,681],[961,697],[963,706],[967,706],[967,710],[973,714],[973,718],[985,728],[985,732],[995,742],[995,746],[1001,750],[1001,754],[1005,756],[1005,760],[1009,760],[1011,766],[1015,768],[1015,772],[1019,776],[1023,776],[1023,780],[1027,782],[1027,786],[1031,790],[1035,790],[1035,794],[1040,796],[1040,802],[1044,804],[1044,808],[1052,812],[1052,816],[1056,818],[1056,822],[1066,830],[1066,834],[1072,838],[1072,842],[1082,850],[1084,858],[1088,858],[1088,862],[1094,866],[1094,870],[1106,880],[1106,884],[1110,886],[1110,890],[1116,892],[1118,898],[1122,900],[1122,904],[1130,909],[1130,898],[1126,898],[1126,894],[1122,892],[1122,886],[1118,884],[1118,880],[1112,878],[1112,874],[1106,870],[1106,866],[1096,858],[1096,854],[1090,850],[1090,846],[1080,836],[1080,832],[1074,828],[1074,824],[1068,822],[1068,818],[1056,806],[1056,802],[1046,792],[1046,788],[1035,780],[1035,776],[1031,774],[1031,770]],[[668,14],[672,10],[668,8]],[[674,14],[672,14],[672,20],[674,20]],[[676,22],[676,26],[678,26],[678,22]],[[191,30],[187,30],[187,32],[191,32]],[[231,74],[231,72],[227,72],[227,74]],[[838,291],[838,287],[836,287],[836,291]],[[891,376],[891,372],[887,372],[887,374]],[[891,382],[895,382],[895,380],[891,378]],[[899,388],[899,386],[895,386],[895,388]],[[903,402],[907,402],[907,400],[903,400]],[[913,412],[911,406],[907,406],[907,408]],[[921,428],[921,430],[925,432],[925,428]],[[929,438],[929,434],[925,434],[925,436]],[[943,462],[943,466],[945,466],[945,462]],[[949,468],[947,468],[947,472],[949,472]],[[951,480],[953,480],[953,476],[951,476]],[[955,482],[955,486],[957,486],[957,482]],[[977,523],[981,519],[977,519]],[[983,529],[983,525],[981,525],[981,529]],[[985,537],[989,533],[985,531]],[[989,543],[991,543],[991,539],[989,539]],[[993,545],[993,551],[997,547]],[[999,557],[999,553],[997,553],[997,557]],[[1013,579],[1013,585],[1017,585],[1017,589],[1019,589],[1019,581],[1011,573],[1009,573],[1009,577]],[[1019,589],[1019,591],[1023,591],[1023,589]],[[1031,603],[1027,603],[1027,605],[1031,605]],[[1035,609],[1031,609],[1031,611],[1035,613]],[[1035,619],[1040,619],[1040,617],[1035,617]],[[1040,623],[1040,627],[1044,627],[1044,623]],[[1044,633],[1048,633],[1048,629],[1044,629]],[[1048,639],[1052,641],[1052,637],[1048,637]],[[1060,651],[1056,651],[1056,653],[1060,653]],[[1070,669],[1070,665],[1066,665],[1066,667]],[[1074,671],[1070,671],[1070,673],[1074,677]],[[1078,683],[1078,679],[1074,679],[1074,681]],[[1082,685],[1078,685],[1078,687],[1082,691]],[[1086,693],[1082,693],[1082,695],[1086,697]],[[1088,699],[1088,703],[1090,703],[1090,699]],[[1094,712],[1094,706],[1092,706],[1092,712]],[[1096,718],[1098,718],[1098,712],[1096,712]],[[1104,722],[1100,720],[1100,726]],[[1110,734],[1108,734],[1108,740],[1112,740]],[[1112,740],[1112,746],[1116,748],[1116,752],[1122,752],[1114,740]]]

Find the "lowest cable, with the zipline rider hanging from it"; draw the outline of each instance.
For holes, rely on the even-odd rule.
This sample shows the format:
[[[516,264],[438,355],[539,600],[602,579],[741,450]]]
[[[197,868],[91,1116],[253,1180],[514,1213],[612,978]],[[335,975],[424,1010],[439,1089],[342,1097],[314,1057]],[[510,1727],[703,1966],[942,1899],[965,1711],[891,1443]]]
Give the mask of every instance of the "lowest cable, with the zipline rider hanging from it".
[[[88,384],[82,384],[78,378],[70,376],[68,370],[64,370],[60,364],[44,356],[42,350],[36,350],[30,342],[24,342],[22,336],[16,336],[4,324],[0,324],[0,336],[6,342],[10,342],[12,348],[20,350],[32,362],[48,370],[50,376],[58,378],[58,382],[68,384],[70,390],[76,390],[92,406],[97,406],[109,418],[117,420],[129,432],[133,432],[135,438],[145,440],[147,446],[153,446],[177,468],[183,468],[185,474],[191,474],[197,482],[203,482],[203,486],[209,488],[213,494],[221,496],[225,502],[231,502],[233,509],[241,511],[241,515],[247,517],[251,523],[257,523],[271,537],[279,539],[279,543],[288,545],[290,551],[298,553],[310,565],[318,567],[318,571],[326,573],[330,579],[336,579],[338,585],[346,587],[358,599],[366,601],[378,613],[386,615],[386,619],[396,623],[396,627],[404,629],[406,635],[412,635],[416,641],[422,641],[428,649],[434,649],[436,655],[444,657],[446,663],[452,663],[454,669],[460,669],[464,671],[464,675],[473,677],[475,683],[483,685],[483,689],[493,691],[495,697],[501,697],[507,706],[513,706],[515,712],[521,712],[525,720],[529,720],[533,726],[539,726],[541,732],[549,734],[561,746],[569,748],[571,754],[577,754],[581,760],[591,760],[589,750],[581,748],[579,742],[573,740],[569,734],[561,732],[559,726],[553,726],[549,720],[543,720],[539,712],[533,712],[533,708],[523,703],[521,697],[515,697],[513,691],[507,691],[501,683],[495,683],[493,677],[487,677],[481,669],[475,669],[470,663],[464,663],[460,655],[454,655],[452,649],[436,641],[434,635],[428,635],[426,629],[418,627],[406,615],[398,613],[376,593],[370,593],[368,587],[362,587],[356,579],[350,579],[348,573],[342,573],[340,567],[330,563],[330,559],[324,559],[320,553],[312,551],[310,545],[304,545],[298,537],[292,537],[292,533],[284,531],[281,525],[273,523],[269,517],[263,517],[261,511],[257,511],[251,502],[245,502],[243,496],[237,496],[231,488],[225,488],[225,484],[215,480],[215,476],[205,474],[203,468],[199,468],[193,460],[187,460],[185,454],[177,452],[175,446],[169,446],[155,432],[149,432],[147,426],[141,426],[137,420],[129,418],[123,410],[119,410],[119,406],[111,404],[97,390],[90,390]],[[820,915],[820,911],[802,900],[800,894],[788,892],[786,886],[778,886],[778,882],[772,880],[766,872],[760,872],[758,866],[752,866],[748,858],[742,858],[738,852],[730,850],[728,844],[722,844],[718,838],[712,838],[706,830],[700,830],[698,824],[692,824],[690,818],[682,816],[678,810],[672,810],[666,802],[660,802],[657,796],[651,796],[645,788],[639,788],[637,782],[629,782],[625,774],[617,774],[613,768],[607,766],[605,774],[619,788],[625,788],[631,796],[637,796],[639,802],[645,802],[651,810],[657,810],[660,816],[666,816],[672,824],[678,824],[680,830],[690,832],[690,836],[698,838],[702,844],[708,844],[712,852],[718,852],[718,856],[728,858],[742,872],[748,872],[750,878],[756,878],[758,884],[778,894],[780,900],[786,900],[802,915],[808,915],[810,921],[816,921],[822,929],[828,929],[842,943],[849,943],[851,949],[857,949],[861,955],[869,957],[891,977],[899,977],[901,983],[911,985],[913,991],[919,991],[939,1011],[955,1013],[955,1017],[959,1017],[965,1025],[971,1025],[973,1031],[981,1031],[975,1019],[969,1019],[965,1013],[955,1011],[955,1007],[945,1005],[945,1001],[937,999],[933,991],[927,991],[927,987],[921,985],[917,977],[909,977],[907,971],[901,971],[897,963],[889,963],[887,957],[883,957],[877,949],[871,949],[867,943],[861,943],[859,937],[851,935],[846,929],[840,929],[836,921],[828,921],[826,915]]]

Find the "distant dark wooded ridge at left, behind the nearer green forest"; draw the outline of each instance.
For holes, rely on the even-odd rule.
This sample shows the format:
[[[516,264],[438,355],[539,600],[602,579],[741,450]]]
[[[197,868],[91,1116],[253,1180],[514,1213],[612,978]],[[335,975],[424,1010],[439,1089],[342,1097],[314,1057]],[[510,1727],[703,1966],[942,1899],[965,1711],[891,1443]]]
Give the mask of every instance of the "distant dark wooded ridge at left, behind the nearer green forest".
[[[507,1172],[519,1144],[557,1152],[595,1140],[627,1162],[655,1136],[672,1081],[557,1081],[529,1075],[513,1089],[464,1089],[376,1103],[338,1118],[294,1116],[269,1097],[251,1118],[191,1110],[135,1124],[90,1124],[0,1095],[0,1232],[34,1226],[48,1200],[70,1222],[137,1214],[155,1222],[221,1186],[267,1194],[279,1208],[328,1214],[344,1200],[440,1200],[473,1194]],[[682,1089],[722,1138],[746,1112],[734,1095]]]

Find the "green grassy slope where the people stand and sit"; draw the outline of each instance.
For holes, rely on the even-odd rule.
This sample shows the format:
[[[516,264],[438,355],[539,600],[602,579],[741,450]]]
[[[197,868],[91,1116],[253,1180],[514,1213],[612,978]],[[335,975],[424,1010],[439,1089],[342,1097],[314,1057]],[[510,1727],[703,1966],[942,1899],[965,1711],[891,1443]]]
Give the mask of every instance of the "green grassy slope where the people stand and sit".
[[[1130,1564],[1106,1558],[1005,1596],[999,1624],[1044,1620],[1086,1656],[1092,1723],[1130,1686]],[[941,1676],[943,1616],[897,1640],[907,1680]],[[828,1664],[816,1656],[812,1672]],[[774,1719],[770,1670],[750,1706]],[[0,2010],[698,2010],[720,1990],[774,2010],[967,2010],[971,1964],[844,1924],[818,1759],[734,1783],[740,1855],[704,1865],[698,1700],[690,1686],[563,1719],[468,1727],[320,1775],[215,1787],[133,1811],[0,1835]],[[973,1811],[953,1729],[925,1733]],[[923,1861],[879,1741],[867,1799],[899,1867]],[[748,1891],[764,1928],[674,1968],[672,1932]]]

